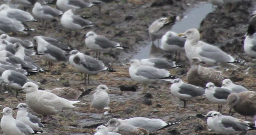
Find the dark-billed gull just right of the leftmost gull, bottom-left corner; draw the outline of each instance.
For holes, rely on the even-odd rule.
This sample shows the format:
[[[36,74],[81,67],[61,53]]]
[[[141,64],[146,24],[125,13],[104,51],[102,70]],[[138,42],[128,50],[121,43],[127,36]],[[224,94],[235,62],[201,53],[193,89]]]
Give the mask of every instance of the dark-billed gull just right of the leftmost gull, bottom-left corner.
[[[16,116],[17,120],[20,120],[23,123],[27,124],[34,131],[46,132],[44,131],[44,129],[41,128],[41,127],[44,127],[44,125],[40,122],[41,119],[39,119],[35,115],[32,115],[28,112],[27,104],[20,103],[13,110],[18,110],[17,116]]]

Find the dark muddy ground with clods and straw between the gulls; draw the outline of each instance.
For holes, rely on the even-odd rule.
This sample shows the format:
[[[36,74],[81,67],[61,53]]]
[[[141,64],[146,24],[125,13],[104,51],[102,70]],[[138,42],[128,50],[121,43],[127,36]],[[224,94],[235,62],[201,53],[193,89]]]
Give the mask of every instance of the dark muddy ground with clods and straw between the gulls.
[[[167,85],[167,82],[148,85],[148,92],[152,94],[152,98],[145,98],[143,94],[140,94],[142,85],[130,79],[129,67],[124,65],[142,47],[150,43],[148,27],[154,20],[161,16],[182,16],[186,10],[193,8],[194,4],[199,2],[206,1],[120,0],[102,4],[101,15],[98,14],[98,7],[88,8],[78,14],[90,17],[89,20],[96,23],[96,25],[90,29],[79,31],[79,36],[72,36],[71,39],[67,39],[68,31],[62,28],[59,19],[57,22],[51,22],[46,29],[42,28],[41,23],[27,23],[31,28],[35,28],[36,32],[31,32],[29,35],[18,34],[18,37],[32,40],[32,37],[36,35],[51,36],[92,56],[95,54],[86,49],[84,45],[83,35],[88,31],[105,35],[113,41],[120,42],[130,48],[126,50],[112,49],[105,52],[101,61],[108,66],[112,66],[116,72],[100,72],[98,75],[91,76],[91,84],[81,84],[83,82],[82,75],[68,63],[61,62],[54,63],[51,72],[29,76],[30,79],[41,82],[40,87],[44,89],[62,86],[79,86],[89,89],[95,88],[98,84],[106,84],[112,89],[109,92],[111,112],[105,116],[105,119],[101,118],[102,112],[90,109],[90,100],[94,93],[92,91],[80,99],[81,102],[87,102],[86,105],[79,105],[77,109],[65,110],[58,115],[53,115],[50,123],[45,124],[45,130],[48,133],[44,133],[44,135],[90,135],[93,134],[92,130],[96,129],[97,125],[106,123],[112,117],[125,119],[138,116],[181,122],[155,132],[154,134],[157,135],[214,134],[208,131],[206,119],[201,116],[211,110],[217,110],[217,105],[210,104],[206,99],[192,100],[187,102],[187,108],[184,109],[182,108],[183,102],[170,94],[170,85]],[[241,65],[236,70],[226,70],[224,68],[219,70],[222,70],[236,84],[243,85],[249,90],[255,90],[256,88],[256,64],[255,60],[244,54],[242,40],[246,33],[250,14],[256,9],[255,5],[254,0],[243,0],[243,2],[234,5],[224,5],[208,14],[200,26],[203,41],[221,47],[237,59],[248,61],[246,65]],[[170,70],[170,72],[186,81],[185,76],[189,65],[184,53],[182,55],[179,64],[186,65],[186,68],[176,68]],[[33,59],[37,61],[38,65],[47,68],[45,62],[40,58],[34,57]],[[59,75],[52,75],[52,72],[57,72]],[[138,85],[139,90],[122,93],[117,87],[123,84]],[[22,93],[19,94],[18,98],[15,98],[12,92],[2,93],[0,97],[2,108],[6,106],[15,108],[20,102],[26,102],[25,94]],[[228,113],[228,106],[224,106],[223,113]],[[14,112],[15,115],[16,112]],[[38,117],[41,116],[38,115]],[[237,113],[234,114],[234,117],[244,119]],[[250,119],[254,121],[253,118]],[[256,131],[248,131],[246,134],[255,135]]]

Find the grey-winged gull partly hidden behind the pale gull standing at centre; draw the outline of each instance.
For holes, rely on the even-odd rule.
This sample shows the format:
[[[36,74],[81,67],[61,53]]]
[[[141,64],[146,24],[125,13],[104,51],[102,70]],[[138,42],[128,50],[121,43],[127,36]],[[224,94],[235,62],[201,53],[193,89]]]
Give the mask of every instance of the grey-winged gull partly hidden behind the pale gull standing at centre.
[[[150,58],[150,59],[141,59],[140,60],[141,65],[144,66],[152,66],[159,69],[166,69],[169,70],[171,68],[176,67],[183,67],[182,65],[176,65],[174,61],[168,61],[163,58]]]

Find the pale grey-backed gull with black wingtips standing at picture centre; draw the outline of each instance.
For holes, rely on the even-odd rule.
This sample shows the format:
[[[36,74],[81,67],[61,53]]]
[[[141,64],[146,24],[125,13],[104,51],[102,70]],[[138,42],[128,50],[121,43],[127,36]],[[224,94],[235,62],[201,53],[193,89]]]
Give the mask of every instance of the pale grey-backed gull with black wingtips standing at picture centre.
[[[143,93],[147,92],[147,84],[156,82],[157,80],[165,80],[171,82],[176,76],[170,75],[165,69],[143,66],[140,61],[135,59],[130,62],[129,74],[132,80],[143,84]]]

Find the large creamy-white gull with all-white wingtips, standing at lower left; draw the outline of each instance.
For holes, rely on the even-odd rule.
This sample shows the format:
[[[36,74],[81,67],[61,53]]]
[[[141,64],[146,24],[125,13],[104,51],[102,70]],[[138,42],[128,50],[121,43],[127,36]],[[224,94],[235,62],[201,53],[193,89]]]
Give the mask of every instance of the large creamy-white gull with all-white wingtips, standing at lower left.
[[[27,82],[20,90],[26,93],[26,104],[33,112],[41,114],[43,117],[47,116],[47,120],[49,115],[58,114],[66,109],[78,108],[73,104],[80,102],[69,101],[53,93],[38,90],[33,82]]]

